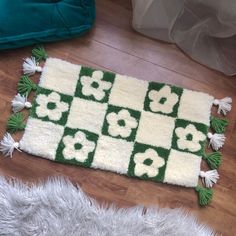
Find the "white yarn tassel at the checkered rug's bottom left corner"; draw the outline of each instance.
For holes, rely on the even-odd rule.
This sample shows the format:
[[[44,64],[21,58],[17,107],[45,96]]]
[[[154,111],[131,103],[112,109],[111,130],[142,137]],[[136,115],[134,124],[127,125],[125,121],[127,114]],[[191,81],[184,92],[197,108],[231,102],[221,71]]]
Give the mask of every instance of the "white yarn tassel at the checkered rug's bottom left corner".
[[[0,152],[2,152],[3,155],[10,156],[12,158],[14,149],[17,149],[21,152],[19,149],[19,143],[15,142],[9,133],[6,133],[0,142]]]

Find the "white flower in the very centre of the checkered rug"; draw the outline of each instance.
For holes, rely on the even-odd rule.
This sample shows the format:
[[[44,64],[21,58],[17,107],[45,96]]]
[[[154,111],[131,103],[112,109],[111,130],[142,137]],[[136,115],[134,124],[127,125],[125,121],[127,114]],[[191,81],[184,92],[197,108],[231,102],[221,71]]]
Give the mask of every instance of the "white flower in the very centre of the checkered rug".
[[[138,126],[138,122],[130,115],[128,110],[122,109],[118,113],[111,112],[106,117],[108,122],[108,133],[111,136],[127,138],[132,129]]]

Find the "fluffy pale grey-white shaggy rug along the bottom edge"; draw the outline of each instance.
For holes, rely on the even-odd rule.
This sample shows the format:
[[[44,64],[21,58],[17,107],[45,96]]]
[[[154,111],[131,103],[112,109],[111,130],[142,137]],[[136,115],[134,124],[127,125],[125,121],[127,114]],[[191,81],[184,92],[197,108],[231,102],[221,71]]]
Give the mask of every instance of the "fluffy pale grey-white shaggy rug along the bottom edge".
[[[64,179],[28,187],[0,178],[0,235],[215,235],[182,210],[101,207]]]

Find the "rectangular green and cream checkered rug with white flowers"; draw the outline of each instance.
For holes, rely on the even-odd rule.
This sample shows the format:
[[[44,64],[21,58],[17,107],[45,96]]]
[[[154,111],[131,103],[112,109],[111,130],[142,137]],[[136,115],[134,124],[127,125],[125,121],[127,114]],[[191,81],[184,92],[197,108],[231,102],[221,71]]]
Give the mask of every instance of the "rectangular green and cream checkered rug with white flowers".
[[[220,164],[220,153],[206,154],[205,146],[207,137],[214,149],[223,145],[223,134],[208,133],[212,105],[226,113],[222,100],[56,58],[35,70],[42,74],[38,86],[31,85],[35,99],[23,137],[14,147],[56,162],[196,187],[212,195],[210,187],[219,175],[200,166],[202,158],[216,157],[215,162],[207,160],[212,169]],[[20,81],[21,93],[27,83]],[[26,88],[25,95],[30,90]],[[198,185],[199,176],[206,189]]]

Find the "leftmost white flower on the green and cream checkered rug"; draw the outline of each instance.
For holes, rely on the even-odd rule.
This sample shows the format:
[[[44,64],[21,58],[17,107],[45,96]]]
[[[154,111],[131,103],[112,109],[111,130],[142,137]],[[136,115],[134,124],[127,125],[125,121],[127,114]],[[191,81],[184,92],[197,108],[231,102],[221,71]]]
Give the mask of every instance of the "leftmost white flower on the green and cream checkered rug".
[[[61,119],[62,113],[68,111],[69,105],[61,102],[58,93],[52,92],[49,95],[39,94],[36,98],[38,104],[36,114],[38,117],[48,117],[50,120],[58,121]]]

